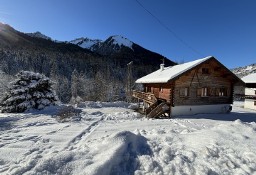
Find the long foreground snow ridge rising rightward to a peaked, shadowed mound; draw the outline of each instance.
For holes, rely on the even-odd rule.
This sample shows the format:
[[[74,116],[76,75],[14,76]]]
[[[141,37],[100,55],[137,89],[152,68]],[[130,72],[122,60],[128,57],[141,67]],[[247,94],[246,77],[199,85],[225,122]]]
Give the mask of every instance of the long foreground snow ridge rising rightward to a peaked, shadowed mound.
[[[32,160],[29,164],[35,166],[31,171],[33,174],[128,175],[133,174],[139,166],[138,156],[150,154],[152,152],[145,137],[122,131],[101,144],[46,154],[39,163]],[[25,170],[18,169],[15,173],[22,172]]]

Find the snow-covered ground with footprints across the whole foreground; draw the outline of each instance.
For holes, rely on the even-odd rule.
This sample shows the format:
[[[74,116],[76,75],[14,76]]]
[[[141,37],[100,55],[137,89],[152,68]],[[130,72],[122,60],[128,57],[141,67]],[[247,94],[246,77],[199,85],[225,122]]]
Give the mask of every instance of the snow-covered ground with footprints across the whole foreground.
[[[0,174],[256,174],[256,111],[146,119],[124,103],[0,114]]]

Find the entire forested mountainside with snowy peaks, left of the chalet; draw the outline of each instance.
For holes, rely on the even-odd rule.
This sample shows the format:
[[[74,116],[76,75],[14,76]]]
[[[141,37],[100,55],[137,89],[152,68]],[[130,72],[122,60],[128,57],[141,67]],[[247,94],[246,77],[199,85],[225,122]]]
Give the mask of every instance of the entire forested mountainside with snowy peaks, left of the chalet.
[[[83,47],[81,47],[83,46]],[[25,34],[0,23],[0,91],[5,77],[21,70],[43,73],[54,82],[62,102],[69,102],[74,89],[83,100],[123,100],[127,86],[127,64],[133,62],[131,79],[175,63],[121,36],[105,41],[80,38],[55,42],[36,32]],[[75,81],[75,83],[74,83]],[[75,84],[75,87],[74,87]],[[3,87],[2,87],[3,86]],[[2,94],[2,92],[0,92]]]

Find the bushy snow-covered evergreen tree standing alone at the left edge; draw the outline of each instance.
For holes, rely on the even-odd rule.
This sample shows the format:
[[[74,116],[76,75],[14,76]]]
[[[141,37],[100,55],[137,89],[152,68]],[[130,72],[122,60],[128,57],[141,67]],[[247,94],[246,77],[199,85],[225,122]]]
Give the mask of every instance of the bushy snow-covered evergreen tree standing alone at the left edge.
[[[0,102],[2,112],[24,112],[28,109],[43,109],[58,101],[45,75],[21,71]]]

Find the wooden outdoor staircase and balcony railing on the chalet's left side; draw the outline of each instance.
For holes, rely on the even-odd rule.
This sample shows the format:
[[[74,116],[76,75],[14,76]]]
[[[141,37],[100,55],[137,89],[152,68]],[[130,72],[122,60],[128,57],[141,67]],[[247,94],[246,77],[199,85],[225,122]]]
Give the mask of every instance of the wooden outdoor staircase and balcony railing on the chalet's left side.
[[[141,99],[150,105],[144,111],[149,118],[161,117],[164,116],[165,113],[170,112],[169,105],[162,100],[158,100],[152,93],[133,91],[132,96]]]

